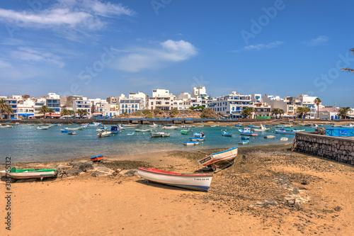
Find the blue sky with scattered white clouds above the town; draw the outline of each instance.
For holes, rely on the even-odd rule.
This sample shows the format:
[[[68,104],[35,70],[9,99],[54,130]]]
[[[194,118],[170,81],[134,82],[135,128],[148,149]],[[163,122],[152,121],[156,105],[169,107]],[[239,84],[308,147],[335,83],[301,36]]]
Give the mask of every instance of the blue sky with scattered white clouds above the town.
[[[0,95],[319,96],[354,106],[353,1],[0,4]]]

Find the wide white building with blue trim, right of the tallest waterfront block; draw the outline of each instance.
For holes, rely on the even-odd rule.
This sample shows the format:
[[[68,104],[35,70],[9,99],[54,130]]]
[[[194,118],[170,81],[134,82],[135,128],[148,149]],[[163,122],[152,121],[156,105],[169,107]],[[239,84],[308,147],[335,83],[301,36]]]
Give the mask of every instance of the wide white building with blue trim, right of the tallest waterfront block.
[[[233,91],[231,94],[218,96],[208,101],[207,106],[212,108],[215,113],[223,116],[237,118],[242,116],[241,112],[248,107],[253,107],[251,95],[241,95]]]

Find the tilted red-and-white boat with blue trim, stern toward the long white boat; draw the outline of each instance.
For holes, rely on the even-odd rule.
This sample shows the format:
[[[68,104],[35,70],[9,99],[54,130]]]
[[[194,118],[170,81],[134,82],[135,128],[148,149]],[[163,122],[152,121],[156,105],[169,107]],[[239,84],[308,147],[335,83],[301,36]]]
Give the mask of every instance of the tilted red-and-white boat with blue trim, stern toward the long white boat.
[[[227,162],[233,162],[237,156],[237,148],[238,147],[232,147],[229,150],[212,153],[202,159],[198,159],[198,163],[204,167],[207,167],[215,163],[220,165]]]

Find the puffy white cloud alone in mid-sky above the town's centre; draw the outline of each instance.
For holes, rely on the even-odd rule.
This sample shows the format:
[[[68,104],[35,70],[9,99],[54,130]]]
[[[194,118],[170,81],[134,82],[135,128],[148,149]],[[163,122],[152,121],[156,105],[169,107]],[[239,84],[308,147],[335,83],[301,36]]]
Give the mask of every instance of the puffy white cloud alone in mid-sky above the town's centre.
[[[113,67],[126,72],[158,69],[166,67],[171,62],[188,60],[198,54],[197,48],[184,40],[166,40],[154,48],[136,47],[128,50],[113,50],[122,53]]]

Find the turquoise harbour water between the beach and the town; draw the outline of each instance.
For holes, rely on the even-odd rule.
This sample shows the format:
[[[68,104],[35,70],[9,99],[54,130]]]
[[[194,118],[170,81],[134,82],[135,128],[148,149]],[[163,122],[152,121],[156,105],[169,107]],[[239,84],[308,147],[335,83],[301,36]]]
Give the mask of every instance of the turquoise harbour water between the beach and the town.
[[[110,125],[106,125],[110,127]],[[163,150],[198,150],[215,147],[243,147],[254,145],[270,145],[286,143],[280,141],[280,137],[288,137],[292,142],[295,135],[275,134],[274,128],[270,126],[269,131],[259,132],[258,137],[250,137],[248,145],[239,145],[241,135],[236,128],[229,127],[200,127],[191,128],[189,135],[181,135],[178,130],[163,130],[155,128],[153,131],[170,133],[170,137],[152,138],[149,133],[135,133],[135,129],[122,130],[121,133],[110,137],[98,138],[96,127],[89,127],[84,130],[77,130],[76,135],[62,133],[64,127],[77,127],[76,125],[52,126],[48,130],[37,130],[33,125],[17,125],[16,128],[0,129],[0,153],[1,159],[11,157],[12,162],[44,162],[72,159],[75,157],[91,157],[104,154],[105,157],[115,157],[122,154],[142,154]],[[324,126],[326,127],[326,126]],[[145,125],[142,128],[147,128]],[[299,130],[313,131],[314,128],[295,127]],[[330,128],[330,126],[328,126]],[[221,130],[232,133],[232,137],[224,137]],[[193,133],[203,131],[206,135],[205,141],[199,145],[185,146],[183,142],[189,141]],[[273,139],[266,139],[264,135],[275,135]]]

